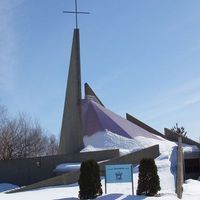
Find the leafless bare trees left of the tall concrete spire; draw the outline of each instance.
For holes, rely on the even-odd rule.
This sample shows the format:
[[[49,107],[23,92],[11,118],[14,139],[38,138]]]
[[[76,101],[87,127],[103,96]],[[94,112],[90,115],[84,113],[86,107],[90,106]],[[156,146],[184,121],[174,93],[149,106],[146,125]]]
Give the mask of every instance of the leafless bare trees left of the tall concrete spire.
[[[37,121],[25,114],[8,118],[6,109],[0,107],[0,160],[54,155],[57,149],[56,137]]]

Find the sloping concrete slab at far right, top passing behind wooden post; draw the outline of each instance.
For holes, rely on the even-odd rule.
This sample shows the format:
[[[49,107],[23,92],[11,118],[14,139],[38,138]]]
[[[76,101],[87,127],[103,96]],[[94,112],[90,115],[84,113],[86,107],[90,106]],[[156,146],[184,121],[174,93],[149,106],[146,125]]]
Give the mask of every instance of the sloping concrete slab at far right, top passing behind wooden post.
[[[177,134],[177,133],[174,133],[173,131],[165,128],[165,137],[170,140],[170,141],[173,141],[173,142],[178,142],[178,137],[180,135]],[[200,144],[198,142],[195,142],[194,140],[191,140],[190,138],[187,138],[183,135],[181,135],[182,137],[182,142],[185,143],[185,144],[190,144],[190,145],[196,145],[197,147],[200,148]]]

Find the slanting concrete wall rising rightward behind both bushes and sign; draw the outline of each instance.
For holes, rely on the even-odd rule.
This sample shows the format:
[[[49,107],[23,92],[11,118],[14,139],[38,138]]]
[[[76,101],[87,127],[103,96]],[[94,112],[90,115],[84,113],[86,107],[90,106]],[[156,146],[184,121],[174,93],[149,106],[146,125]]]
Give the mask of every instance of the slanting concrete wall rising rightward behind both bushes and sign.
[[[105,165],[108,165],[108,164],[127,164],[127,163],[128,164],[138,164],[140,162],[140,160],[143,158],[155,159],[159,155],[160,155],[159,145],[154,145],[152,147],[149,147],[149,148],[137,151],[137,152],[133,152],[133,153],[121,156],[121,157],[117,157],[117,158],[111,159],[109,161],[101,162],[101,163],[99,163],[101,174],[102,175],[104,174]],[[32,189],[41,188],[41,187],[76,183],[79,179],[79,175],[80,175],[79,170],[74,171],[74,172],[65,173],[63,175],[59,175],[59,176],[56,176],[51,179],[43,180],[41,182],[29,185],[27,187],[12,191],[10,193],[28,191],[28,190],[32,190]]]

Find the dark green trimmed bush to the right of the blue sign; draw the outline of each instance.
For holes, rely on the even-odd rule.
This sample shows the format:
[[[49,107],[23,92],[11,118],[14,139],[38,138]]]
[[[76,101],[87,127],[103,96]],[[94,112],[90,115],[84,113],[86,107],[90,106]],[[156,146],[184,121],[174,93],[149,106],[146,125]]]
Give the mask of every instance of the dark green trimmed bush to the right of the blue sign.
[[[160,179],[154,160],[142,159],[139,166],[137,194],[154,196],[160,189]]]

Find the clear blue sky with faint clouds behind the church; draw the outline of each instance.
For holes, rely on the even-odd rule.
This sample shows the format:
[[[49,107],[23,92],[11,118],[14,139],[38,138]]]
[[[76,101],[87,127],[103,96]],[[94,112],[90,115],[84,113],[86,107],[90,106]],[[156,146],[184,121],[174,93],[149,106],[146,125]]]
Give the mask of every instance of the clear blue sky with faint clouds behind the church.
[[[0,1],[0,104],[59,135],[73,0]],[[200,1],[79,0],[82,83],[107,108],[200,136]]]

